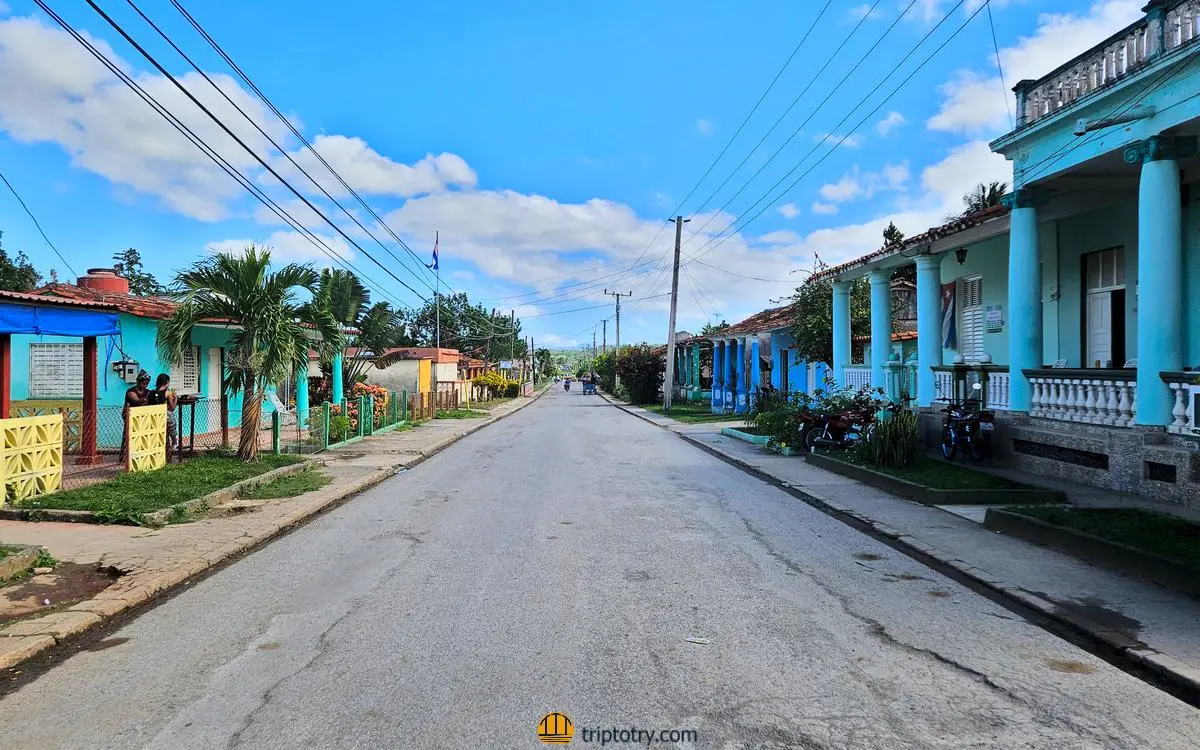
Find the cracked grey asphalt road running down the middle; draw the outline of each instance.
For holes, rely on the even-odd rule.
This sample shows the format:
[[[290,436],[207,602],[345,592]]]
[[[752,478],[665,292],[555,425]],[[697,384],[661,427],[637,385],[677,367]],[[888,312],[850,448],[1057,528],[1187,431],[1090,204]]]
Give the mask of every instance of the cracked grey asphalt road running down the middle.
[[[0,701],[0,746],[520,749],[553,710],[575,746],[1200,746],[1200,712],[577,390],[114,636]]]

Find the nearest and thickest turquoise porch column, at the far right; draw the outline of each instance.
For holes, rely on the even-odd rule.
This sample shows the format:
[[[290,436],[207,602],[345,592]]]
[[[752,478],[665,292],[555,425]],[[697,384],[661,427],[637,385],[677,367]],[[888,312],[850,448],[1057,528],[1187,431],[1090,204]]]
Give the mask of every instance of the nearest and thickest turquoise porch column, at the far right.
[[[1126,149],[1141,161],[1138,188],[1138,413],[1139,425],[1174,421],[1175,398],[1159,373],[1183,370],[1183,211],[1175,161],[1196,152],[1196,137],[1154,136]]]

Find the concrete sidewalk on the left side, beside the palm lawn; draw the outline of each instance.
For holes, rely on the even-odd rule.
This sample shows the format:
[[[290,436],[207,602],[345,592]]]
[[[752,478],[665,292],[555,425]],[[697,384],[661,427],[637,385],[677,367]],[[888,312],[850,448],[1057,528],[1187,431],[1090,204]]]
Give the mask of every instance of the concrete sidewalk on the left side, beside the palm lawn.
[[[533,403],[544,392],[498,406],[486,418],[432,420],[415,430],[388,432],[330,450],[319,456],[323,470],[332,479],[329,485],[299,497],[268,500],[239,515],[157,529],[0,521],[0,540],[6,544],[42,545],[60,562],[110,568],[121,574],[88,601],[0,629],[0,668],[12,667],[251,550]]]

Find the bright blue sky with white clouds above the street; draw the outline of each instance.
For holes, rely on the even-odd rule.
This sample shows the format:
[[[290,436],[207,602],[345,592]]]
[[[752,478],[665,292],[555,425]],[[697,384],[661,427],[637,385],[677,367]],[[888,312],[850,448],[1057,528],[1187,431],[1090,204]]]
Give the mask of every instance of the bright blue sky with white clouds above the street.
[[[377,299],[419,302],[389,271],[430,295],[432,277],[342,194],[168,0],[138,5],[408,269],[299,174],[127,4],[100,5],[359,248],[299,205],[85,2],[50,2],[242,174],[326,238],[370,280]],[[716,0],[298,0],[287,12],[274,2],[184,5],[422,259],[440,233],[445,286],[516,308],[539,344],[590,342],[599,320],[612,314],[596,307],[611,302],[605,286],[635,293],[623,310],[623,340],[665,340],[664,264],[673,230],[664,229],[664,220],[680,202],[692,221],[684,233],[689,260],[677,328],[697,330],[714,317],[734,322],[770,306],[812,266],[815,254],[835,263],[869,252],[888,221],[907,234],[923,232],[956,210],[974,184],[1009,175],[1008,164],[986,148],[1008,130],[1012,101],[997,77],[986,8],[883,100],[982,0],[964,0],[958,8],[953,0],[880,0],[857,30],[872,4],[832,0],[688,200],[824,0],[763,0],[752,7]],[[1040,77],[1138,18],[1141,5],[992,0],[1004,82]],[[880,94],[863,103],[881,80]],[[798,164],[780,187],[768,190]],[[40,270],[54,268],[64,278],[72,276],[67,264],[83,272],[109,264],[125,247],[139,248],[149,270],[163,278],[215,248],[248,241],[271,245],[281,259],[332,264],[25,0],[0,0],[0,170],[67,263],[0,190],[4,246],[25,251]]]

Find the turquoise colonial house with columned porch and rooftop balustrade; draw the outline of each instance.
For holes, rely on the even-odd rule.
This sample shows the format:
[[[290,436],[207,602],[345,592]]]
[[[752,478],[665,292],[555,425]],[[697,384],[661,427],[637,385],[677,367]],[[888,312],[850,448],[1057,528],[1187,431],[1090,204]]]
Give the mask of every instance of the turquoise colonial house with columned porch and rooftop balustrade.
[[[997,454],[1018,466],[1200,508],[1200,2],[1146,16],[1016,84],[1004,205],[822,274],[833,374],[911,366],[934,408],[984,380]],[[892,356],[888,289],[916,264],[917,344]],[[871,356],[851,362],[848,282],[871,282]]]

